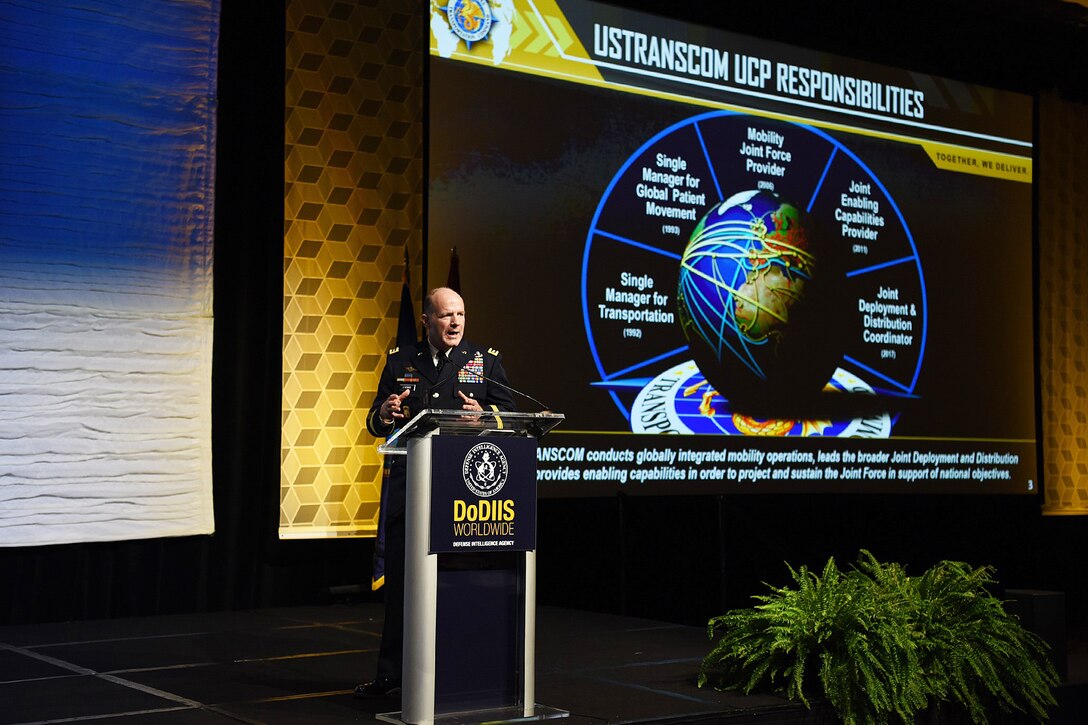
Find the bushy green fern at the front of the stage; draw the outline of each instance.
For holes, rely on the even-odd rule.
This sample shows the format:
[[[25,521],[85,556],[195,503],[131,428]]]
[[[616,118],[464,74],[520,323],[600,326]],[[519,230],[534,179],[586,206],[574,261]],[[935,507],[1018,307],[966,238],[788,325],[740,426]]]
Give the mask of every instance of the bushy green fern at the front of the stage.
[[[848,724],[908,723],[942,702],[975,723],[994,708],[1044,721],[1055,704],[1047,644],[989,593],[992,568],[941,562],[911,577],[862,551],[848,572],[833,558],[819,574],[789,569],[794,587],[710,619],[700,687],[767,688],[806,705],[819,693]]]

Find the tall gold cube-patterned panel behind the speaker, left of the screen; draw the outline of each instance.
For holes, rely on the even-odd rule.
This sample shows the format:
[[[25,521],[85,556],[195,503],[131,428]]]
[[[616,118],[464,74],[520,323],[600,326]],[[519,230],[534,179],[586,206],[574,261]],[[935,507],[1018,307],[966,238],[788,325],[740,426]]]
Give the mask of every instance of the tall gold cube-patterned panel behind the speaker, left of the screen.
[[[422,7],[288,0],[281,538],[367,537],[367,410],[408,251],[422,293]]]

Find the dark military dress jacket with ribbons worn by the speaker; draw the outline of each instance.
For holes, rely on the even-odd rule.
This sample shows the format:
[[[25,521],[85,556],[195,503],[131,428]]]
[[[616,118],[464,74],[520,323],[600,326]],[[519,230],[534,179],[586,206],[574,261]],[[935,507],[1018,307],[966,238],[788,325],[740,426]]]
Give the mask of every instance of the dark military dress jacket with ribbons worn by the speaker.
[[[367,430],[378,438],[392,435],[393,432],[412,419],[420,410],[426,408],[443,408],[459,410],[463,401],[457,395],[460,391],[467,396],[480,401],[484,410],[515,410],[514,395],[502,385],[490,382],[494,380],[502,385],[508,385],[506,370],[503,369],[503,356],[494,348],[482,349],[462,340],[461,344],[449,351],[448,362],[438,373],[431,360],[431,348],[425,340],[416,342],[409,347],[398,347],[390,351],[385,368],[378,382],[378,393],[374,403],[367,415]],[[403,419],[392,425],[382,422],[382,403],[394,393],[411,393],[400,404]],[[405,456],[394,456],[393,469],[390,471],[390,509],[386,515],[398,515],[404,511]],[[399,489],[399,490],[397,490]]]

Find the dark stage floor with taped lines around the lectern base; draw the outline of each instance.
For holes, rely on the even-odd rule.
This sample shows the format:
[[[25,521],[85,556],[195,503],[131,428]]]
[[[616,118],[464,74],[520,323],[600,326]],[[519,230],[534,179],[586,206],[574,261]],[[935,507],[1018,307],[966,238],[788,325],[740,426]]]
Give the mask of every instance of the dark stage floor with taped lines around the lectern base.
[[[374,722],[398,703],[351,689],[373,674],[381,617],[354,604],[0,627],[0,723]],[[698,627],[541,607],[536,648],[536,700],[565,725],[836,722],[819,703],[695,687]],[[1088,722],[1085,661],[1074,643],[1052,723]]]

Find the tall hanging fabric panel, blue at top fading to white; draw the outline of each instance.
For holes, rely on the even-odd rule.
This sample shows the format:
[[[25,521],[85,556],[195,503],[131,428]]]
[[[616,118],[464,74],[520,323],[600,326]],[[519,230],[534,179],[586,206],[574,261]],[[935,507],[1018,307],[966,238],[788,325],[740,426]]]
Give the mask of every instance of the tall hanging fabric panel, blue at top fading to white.
[[[218,0],[0,0],[0,545],[209,533]]]

